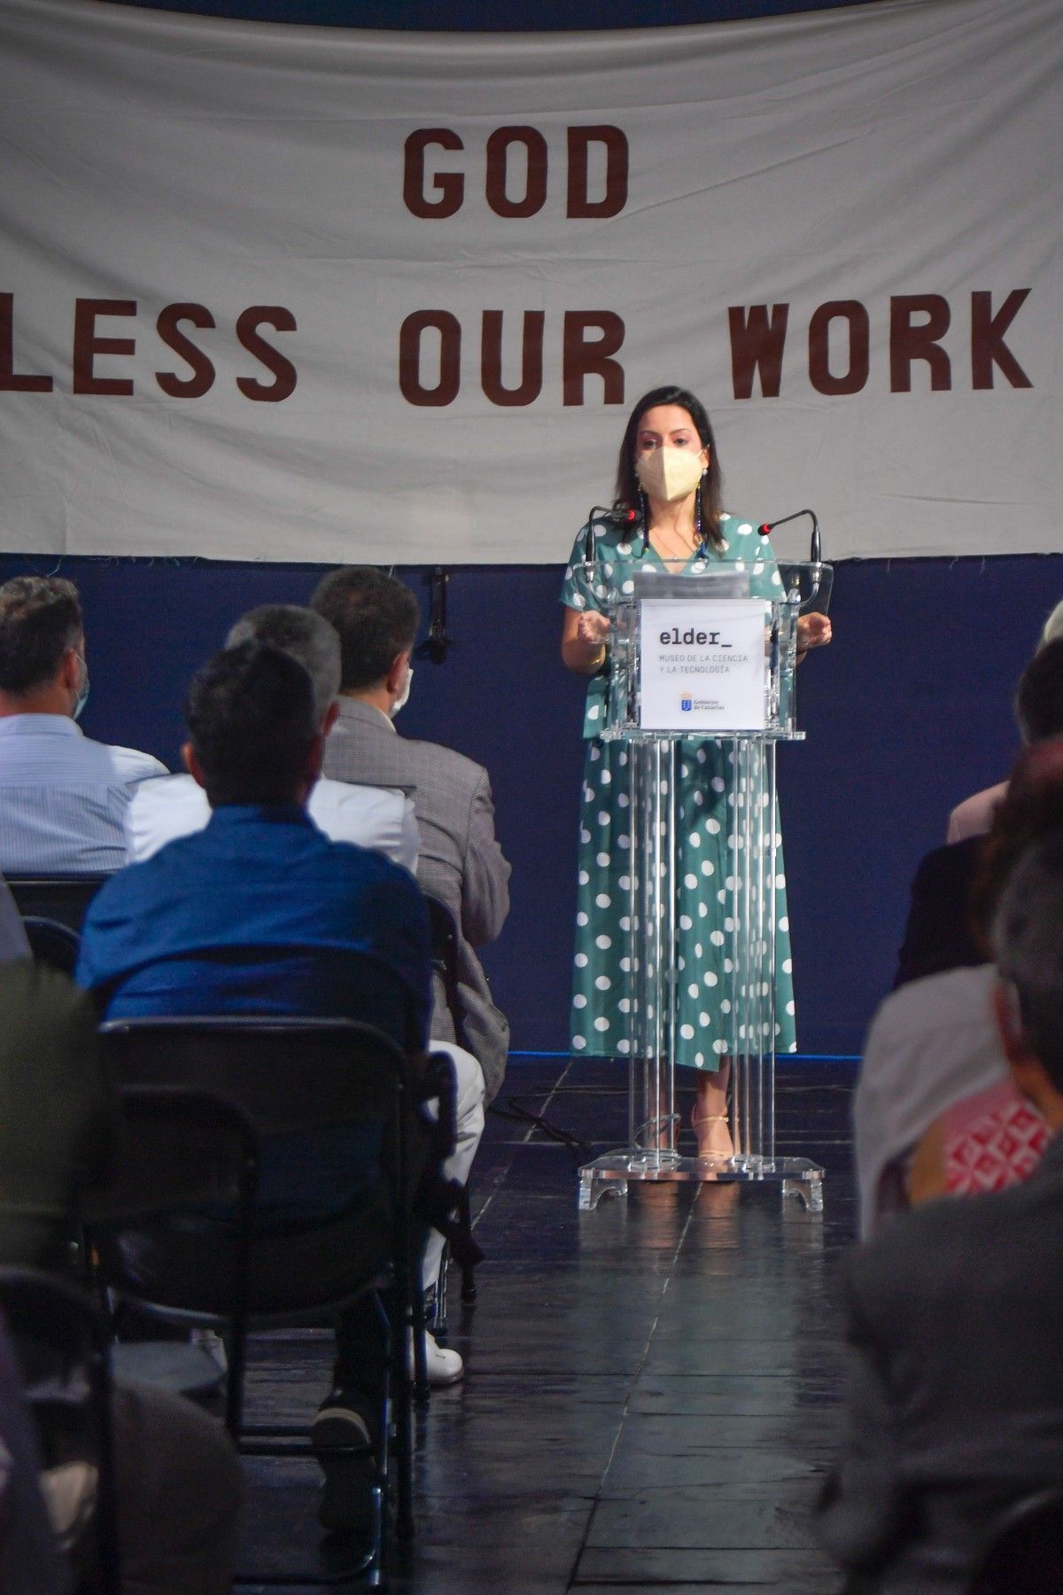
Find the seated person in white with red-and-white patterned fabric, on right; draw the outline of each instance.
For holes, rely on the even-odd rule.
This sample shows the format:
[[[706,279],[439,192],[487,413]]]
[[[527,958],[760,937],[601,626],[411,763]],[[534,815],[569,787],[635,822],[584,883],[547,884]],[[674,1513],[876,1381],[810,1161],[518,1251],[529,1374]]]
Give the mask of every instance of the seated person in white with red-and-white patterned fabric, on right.
[[[932,960],[937,973],[900,986],[872,1021],[853,1110],[864,1238],[910,1199],[999,1188],[1036,1160],[1042,1129],[1006,1085],[987,927],[1015,861],[1060,825],[1063,737],[1053,737],[1015,764],[993,829],[979,837],[980,871],[964,888],[963,908],[953,908],[971,919],[966,936],[977,965],[956,957],[959,967],[950,968],[958,938],[945,935]],[[990,1102],[980,1101],[987,1091],[994,1093]]]

